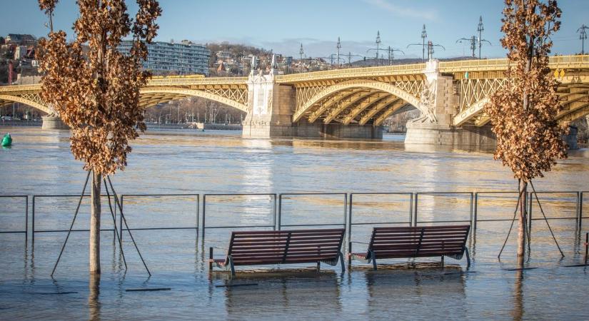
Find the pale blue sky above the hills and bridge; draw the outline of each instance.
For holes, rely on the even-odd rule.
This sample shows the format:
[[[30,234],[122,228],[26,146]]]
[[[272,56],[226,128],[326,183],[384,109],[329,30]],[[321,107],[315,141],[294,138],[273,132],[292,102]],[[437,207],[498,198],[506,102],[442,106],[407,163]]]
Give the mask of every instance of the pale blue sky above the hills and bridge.
[[[127,1],[130,11],[134,1]],[[0,0],[0,35],[9,33],[44,36],[46,17],[35,0]],[[376,31],[381,46],[402,49],[406,57],[421,57],[421,28],[426,24],[428,38],[445,46],[435,56],[469,54],[469,44],[456,44],[460,38],[476,33],[478,17],[483,16],[483,56],[504,56],[500,47],[501,0],[161,0],[163,16],[158,20],[159,41],[188,39],[199,43],[230,41],[262,46],[276,53],[298,57],[303,44],[305,56],[329,56],[336,52],[341,37],[341,52],[366,55],[376,46]],[[560,0],[562,28],[553,37],[555,54],[580,51],[577,29],[589,25],[588,0]],[[56,26],[71,34],[77,16],[74,0],[61,0],[56,9]],[[585,41],[585,47],[589,42]],[[373,56],[373,51],[370,55]],[[397,53],[396,57],[403,55]]]

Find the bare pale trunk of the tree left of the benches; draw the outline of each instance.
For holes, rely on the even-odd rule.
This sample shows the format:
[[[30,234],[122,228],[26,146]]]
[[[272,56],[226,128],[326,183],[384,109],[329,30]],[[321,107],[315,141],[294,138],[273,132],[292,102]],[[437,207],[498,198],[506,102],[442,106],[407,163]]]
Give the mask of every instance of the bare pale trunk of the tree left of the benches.
[[[102,175],[92,171],[90,212],[90,274],[100,274],[100,181]]]

